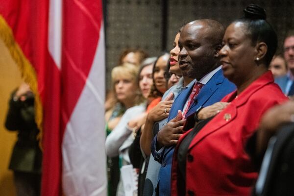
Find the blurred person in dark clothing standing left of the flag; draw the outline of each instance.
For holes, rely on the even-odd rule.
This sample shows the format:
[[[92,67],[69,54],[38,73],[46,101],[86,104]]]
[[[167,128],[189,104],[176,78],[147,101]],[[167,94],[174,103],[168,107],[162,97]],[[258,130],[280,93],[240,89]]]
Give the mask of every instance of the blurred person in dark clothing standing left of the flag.
[[[13,91],[5,127],[18,131],[9,163],[17,196],[40,196],[42,152],[35,123],[34,95],[27,83]]]

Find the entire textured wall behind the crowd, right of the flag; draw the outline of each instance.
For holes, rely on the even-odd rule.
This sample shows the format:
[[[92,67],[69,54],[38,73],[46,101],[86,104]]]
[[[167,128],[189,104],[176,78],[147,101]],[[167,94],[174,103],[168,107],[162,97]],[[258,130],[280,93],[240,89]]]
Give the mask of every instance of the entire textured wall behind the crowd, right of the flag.
[[[183,21],[210,18],[227,26],[242,16],[242,10],[250,2],[253,1],[106,0],[107,83],[123,48],[140,47],[150,55],[157,55],[164,42],[166,49],[172,48],[174,36]],[[267,10],[268,21],[276,30],[281,46],[286,30],[294,28],[294,0],[254,2]],[[165,11],[166,16],[162,14]]]

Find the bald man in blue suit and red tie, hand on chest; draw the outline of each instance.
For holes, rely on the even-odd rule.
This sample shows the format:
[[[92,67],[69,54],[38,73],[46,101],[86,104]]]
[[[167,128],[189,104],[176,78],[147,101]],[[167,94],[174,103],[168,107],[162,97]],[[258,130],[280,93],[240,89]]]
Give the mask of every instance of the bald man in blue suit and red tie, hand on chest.
[[[183,132],[185,118],[202,107],[218,102],[235,90],[224,78],[219,50],[224,27],[214,20],[196,20],[185,25],[179,38],[179,65],[184,76],[196,78],[196,83],[182,91],[174,100],[169,123],[154,137],[151,152],[161,163],[156,194],[171,195],[171,166],[174,145]],[[179,111],[180,110],[180,111]]]

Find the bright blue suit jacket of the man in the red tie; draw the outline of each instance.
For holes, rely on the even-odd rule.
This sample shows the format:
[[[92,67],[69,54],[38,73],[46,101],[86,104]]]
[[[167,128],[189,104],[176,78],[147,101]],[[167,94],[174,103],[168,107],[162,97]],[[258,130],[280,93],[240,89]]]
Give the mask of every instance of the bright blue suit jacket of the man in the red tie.
[[[183,110],[185,102],[189,98],[193,86],[194,85],[191,85],[191,87],[182,91],[174,100],[168,121],[172,120],[177,115],[178,110]],[[194,104],[190,107],[186,116],[193,114],[200,107],[209,106],[215,102],[220,101],[224,96],[231,93],[235,89],[236,86],[223,76],[222,70],[219,70],[202,87],[202,89],[196,97]],[[156,141],[157,135],[154,137],[151,144],[151,152],[154,156],[154,159],[161,163],[161,168],[158,174],[156,192],[158,192],[160,196],[170,196],[172,154],[174,151],[174,146],[164,147],[159,152],[157,152]]]

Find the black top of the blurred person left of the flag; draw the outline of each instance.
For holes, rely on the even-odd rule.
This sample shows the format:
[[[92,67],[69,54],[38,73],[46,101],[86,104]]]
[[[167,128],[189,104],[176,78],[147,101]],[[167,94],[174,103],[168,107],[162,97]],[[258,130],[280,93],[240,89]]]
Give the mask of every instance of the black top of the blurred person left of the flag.
[[[39,129],[35,123],[34,96],[28,92],[24,100],[15,98],[12,93],[5,127],[18,131],[18,140],[13,147],[9,169],[17,172],[41,173],[42,152],[37,135]]]

